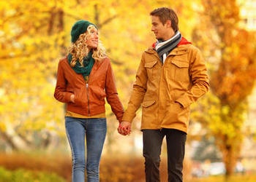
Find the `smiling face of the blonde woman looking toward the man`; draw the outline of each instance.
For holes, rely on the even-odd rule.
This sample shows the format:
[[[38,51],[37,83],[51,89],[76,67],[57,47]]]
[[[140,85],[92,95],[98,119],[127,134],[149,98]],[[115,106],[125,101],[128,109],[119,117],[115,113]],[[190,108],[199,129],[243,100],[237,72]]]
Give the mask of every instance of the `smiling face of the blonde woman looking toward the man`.
[[[86,44],[89,49],[94,49],[98,47],[99,42],[99,33],[97,28],[93,25],[89,25],[87,29],[87,36],[86,36]]]

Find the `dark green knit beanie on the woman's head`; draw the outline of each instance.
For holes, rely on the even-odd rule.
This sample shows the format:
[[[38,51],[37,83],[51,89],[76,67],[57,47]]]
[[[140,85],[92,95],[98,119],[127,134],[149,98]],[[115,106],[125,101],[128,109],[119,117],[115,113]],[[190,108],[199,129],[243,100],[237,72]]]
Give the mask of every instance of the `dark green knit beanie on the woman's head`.
[[[71,30],[71,41],[75,43],[75,41],[78,40],[80,34],[85,33],[87,31],[87,28],[89,25],[94,25],[94,23],[91,23],[86,20],[78,20],[73,26]],[[96,25],[94,25],[95,28],[97,28]]]

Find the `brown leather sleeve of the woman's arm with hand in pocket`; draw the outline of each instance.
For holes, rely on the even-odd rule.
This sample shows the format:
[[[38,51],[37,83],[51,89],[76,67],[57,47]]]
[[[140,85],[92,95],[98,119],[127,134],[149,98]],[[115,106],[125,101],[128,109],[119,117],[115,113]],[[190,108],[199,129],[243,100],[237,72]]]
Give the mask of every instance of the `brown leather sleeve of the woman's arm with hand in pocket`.
[[[59,100],[61,103],[68,103],[70,102],[70,95],[72,95],[72,93],[67,92],[67,80],[65,79],[64,68],[62,66],[63,61],[64,59],[60,60],[58,64],[54,98]]]

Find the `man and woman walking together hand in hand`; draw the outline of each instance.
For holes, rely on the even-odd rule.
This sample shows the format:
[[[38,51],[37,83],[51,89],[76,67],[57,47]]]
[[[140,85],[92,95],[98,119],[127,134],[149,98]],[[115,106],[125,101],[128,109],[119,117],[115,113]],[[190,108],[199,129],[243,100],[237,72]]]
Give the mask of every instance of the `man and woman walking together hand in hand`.
[[[182,169],[189,126],[189,106],[208,91],[205,60],[197,47],[181,36],[173,9],[150,12],[154,42],[140,59],[129,103],[118,98],[110,59],[97,25],[78,20],[71,30],[68,55],[59,60],[54,97],[66,104],[65,127],[72,151],[72,181],[99,181],[105,143],[105,99],[119,121],[118,132],[129,135],[142,107],[146,182],[159,178],[163,138],[167,141],[168,181],[183,181]],[[129,49],[129,47],[127,47]],[[86,144],[85,144],[86,143]]]

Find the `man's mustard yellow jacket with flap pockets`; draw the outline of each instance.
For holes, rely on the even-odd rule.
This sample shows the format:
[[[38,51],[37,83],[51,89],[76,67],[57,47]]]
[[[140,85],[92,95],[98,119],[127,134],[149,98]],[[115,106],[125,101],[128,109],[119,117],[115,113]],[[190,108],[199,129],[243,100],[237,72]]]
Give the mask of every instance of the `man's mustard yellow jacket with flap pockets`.
[[[154,46],[143,52],[123,121],[132,122],[142,106],[141,130],[172,128],[187,132],[189,106],[208,91],[205,61],[182,39],[162,65]]]

